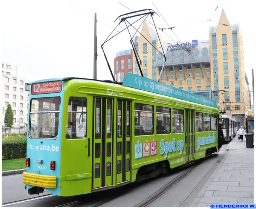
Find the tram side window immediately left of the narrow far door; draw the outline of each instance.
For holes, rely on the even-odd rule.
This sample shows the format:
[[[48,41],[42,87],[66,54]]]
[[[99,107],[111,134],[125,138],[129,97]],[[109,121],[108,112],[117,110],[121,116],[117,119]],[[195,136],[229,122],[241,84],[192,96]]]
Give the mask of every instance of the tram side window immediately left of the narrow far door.
[[[172,109],[172,132],[183,133],[184,132],[184,110]]]

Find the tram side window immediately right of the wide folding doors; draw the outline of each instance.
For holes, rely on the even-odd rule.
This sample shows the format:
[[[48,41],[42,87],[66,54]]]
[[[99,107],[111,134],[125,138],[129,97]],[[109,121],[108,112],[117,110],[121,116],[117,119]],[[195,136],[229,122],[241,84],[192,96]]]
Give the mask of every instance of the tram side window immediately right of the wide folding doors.
[[[153,122],[153,106],[135,103],[135,135],[152,135],[151,129]],[[136,121],[137,120],[137,121]]]

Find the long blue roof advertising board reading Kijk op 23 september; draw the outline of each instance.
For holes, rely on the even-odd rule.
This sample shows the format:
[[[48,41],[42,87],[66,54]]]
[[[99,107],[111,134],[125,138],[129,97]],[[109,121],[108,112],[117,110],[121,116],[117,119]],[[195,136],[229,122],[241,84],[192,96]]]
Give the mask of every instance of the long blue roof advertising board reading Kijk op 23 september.
[[[214,100],[159,83],[134,73],[128,73],[122,85],[217,108],[216,101]]]

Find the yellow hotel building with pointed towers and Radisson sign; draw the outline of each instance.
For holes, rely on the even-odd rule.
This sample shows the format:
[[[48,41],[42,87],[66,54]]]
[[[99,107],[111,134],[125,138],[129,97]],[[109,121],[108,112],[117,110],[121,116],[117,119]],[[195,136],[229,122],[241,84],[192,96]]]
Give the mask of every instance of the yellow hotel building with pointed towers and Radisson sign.
[[[144,77],[215,100],[221,113],[244,126],[250,91],[241,31],[239,24],[229,24],[224,10],[218,26],[210,27],[209,40],[165,44],[146,22],[141,34],[133,41]],[[132,72],[140,74],[134,53],[133,63]]]

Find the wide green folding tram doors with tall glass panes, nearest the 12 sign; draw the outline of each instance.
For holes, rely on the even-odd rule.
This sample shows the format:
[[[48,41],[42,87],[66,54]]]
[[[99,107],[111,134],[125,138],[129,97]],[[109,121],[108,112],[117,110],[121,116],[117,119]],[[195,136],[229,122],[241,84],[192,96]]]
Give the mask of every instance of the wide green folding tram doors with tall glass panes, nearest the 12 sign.
[[[130,113],[130,103],[127,108],[127,101],[118,101],[121,102],[121,118],[126,115],[125,111],[128,109]],[[93,112],[93,162],[92,162],[92,188],[99,188],[104,186],[111,186],[115,183],[122,182],[126,180],[126,177],[129,176],[124,170],[124,161],[126,155],[124,153],[127,149],[127,144],[129,144],[130,150],[130,140],[126,135],[121,134],[122,137],[117,137],[117,115],[119,112],[118,108],[115,108],[114,99],[110,98],[94,98],[94,112]],[[117,111],[118,109],[118,111]],[[115,118],[116,117],[116,118]],[[126,116],[127,117],[127,116]],[[125,118],[126,118],[125,117]],[[126,132],[126,126],[124,125],[124,119],[121,120],[121,126]],[[127,142],[126,142],[127,141]],[[130,160],[130,157],[128,157]],[[125,166],[126,168],[126,166]],[[131,166],[129,165],[128,170],[130,171]],[[120,172],[121,171],[121,172]],[[121,174],[120,178],[118,174]]]

